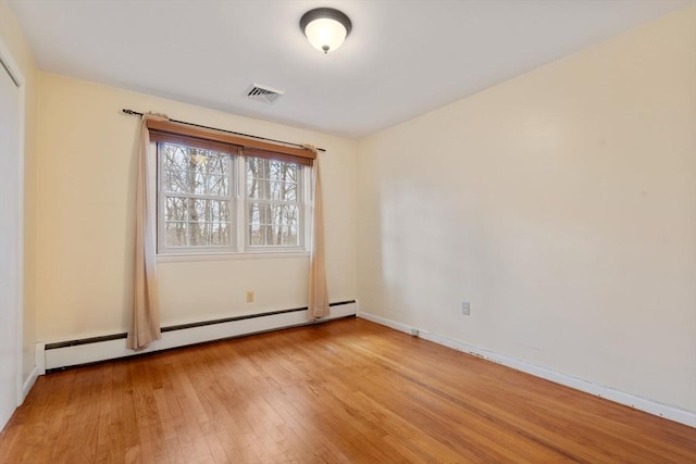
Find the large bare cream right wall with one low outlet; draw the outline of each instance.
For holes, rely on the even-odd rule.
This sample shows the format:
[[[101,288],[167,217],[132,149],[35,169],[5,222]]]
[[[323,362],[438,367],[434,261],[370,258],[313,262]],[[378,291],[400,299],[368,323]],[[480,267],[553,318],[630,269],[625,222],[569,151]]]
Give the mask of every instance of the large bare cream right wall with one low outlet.
[[[695,8],[380,131],[358,165],[361,311],[696,411]]]

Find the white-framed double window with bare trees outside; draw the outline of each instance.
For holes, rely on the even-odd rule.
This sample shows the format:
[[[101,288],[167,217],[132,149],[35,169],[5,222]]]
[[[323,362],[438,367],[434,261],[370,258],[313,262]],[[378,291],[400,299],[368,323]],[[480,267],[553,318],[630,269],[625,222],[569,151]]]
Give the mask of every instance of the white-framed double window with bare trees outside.
[[[158,253],[303,251],[307,163],[266,150],[151,131]]]

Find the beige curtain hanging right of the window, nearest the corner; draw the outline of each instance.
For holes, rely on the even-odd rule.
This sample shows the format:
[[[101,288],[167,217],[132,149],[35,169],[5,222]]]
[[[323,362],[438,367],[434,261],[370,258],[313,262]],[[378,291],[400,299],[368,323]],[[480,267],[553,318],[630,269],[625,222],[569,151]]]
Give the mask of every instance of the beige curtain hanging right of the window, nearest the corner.
[[[313,147],[307,147],[316,149]],[[309,262],[309,301],[307,313],[308,318],[318,319],[327,316],[328,290],[326,288],[326,264],[324,255],[324,214],[322,204],[322,179],[319,168],[319,155],[314,160],[312,167],[312,179],[314,184],[314,213],[312,221],[312,241]]]

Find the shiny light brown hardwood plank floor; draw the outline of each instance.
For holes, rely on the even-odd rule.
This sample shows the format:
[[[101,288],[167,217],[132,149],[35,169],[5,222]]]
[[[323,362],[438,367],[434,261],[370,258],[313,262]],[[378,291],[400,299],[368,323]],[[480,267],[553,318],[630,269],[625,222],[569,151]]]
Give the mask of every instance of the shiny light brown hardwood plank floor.
[[[696,429],[356,318],[40,377],[3,463],[696,462]]]

